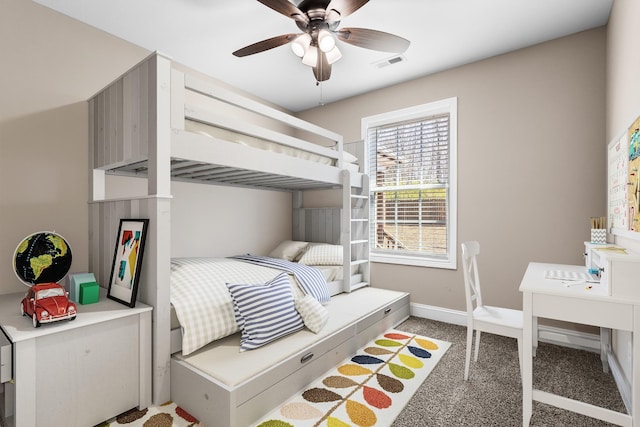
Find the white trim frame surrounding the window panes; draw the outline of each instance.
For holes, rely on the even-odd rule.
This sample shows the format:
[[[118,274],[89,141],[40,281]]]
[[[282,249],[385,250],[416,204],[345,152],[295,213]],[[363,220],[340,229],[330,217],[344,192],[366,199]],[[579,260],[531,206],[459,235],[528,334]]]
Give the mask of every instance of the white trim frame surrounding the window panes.
[[[369,242],[371,262],[402,264],[443,269],[457,268],[458,243],[458,98],[451,97],[426,104],[390,111],[361,119],[361,136],[364,141],[364,167],[369,172],[369,141],[367,131],[371,127],[415,120],[437,114],[449,114],[449,196],[447,209],[447,254],[444,257],[411,255],[402,253],[379,253]],[[371,195],[371,190],[369,190]]]

